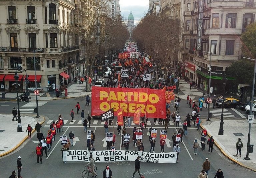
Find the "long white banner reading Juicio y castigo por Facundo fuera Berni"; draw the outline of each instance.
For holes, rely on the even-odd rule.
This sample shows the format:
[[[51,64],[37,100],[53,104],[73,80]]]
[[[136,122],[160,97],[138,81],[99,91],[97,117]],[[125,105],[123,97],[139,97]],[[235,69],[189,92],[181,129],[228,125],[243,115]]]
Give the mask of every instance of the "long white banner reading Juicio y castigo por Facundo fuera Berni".
[[[146,153],[143,151],[63,151],[63,161],[89,162],[92,155],[96,162],[134,161],[140,157],[141,162],[148,163],[176,163],[177,153]]]

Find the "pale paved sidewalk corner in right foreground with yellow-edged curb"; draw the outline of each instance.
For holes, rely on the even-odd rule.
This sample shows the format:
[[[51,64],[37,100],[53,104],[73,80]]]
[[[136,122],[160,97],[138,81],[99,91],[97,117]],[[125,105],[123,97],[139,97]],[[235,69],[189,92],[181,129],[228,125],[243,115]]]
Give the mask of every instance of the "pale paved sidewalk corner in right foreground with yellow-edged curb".
[[[249,131],[249,123],[245,119],[228,119],[224,118],[224,135],[218,135],[220,127],[220,118],[212,118],[211,121],[204,120],[201,127],[206,128],[209,136],[213,136],[215,146],[231,161],[256,171],[256,154],[255,148],[253,153],[249,153],[250,160],[245,160],[247,149],[247,138]],[[251,124],[250,144],[256,145],[256,127]],[[243,148],[241,150],[241,158],[236,155],[236,142],[241,138]],[[206,147],[208,149],[208,146]],[[239,153],[238,153],[239,154]]]

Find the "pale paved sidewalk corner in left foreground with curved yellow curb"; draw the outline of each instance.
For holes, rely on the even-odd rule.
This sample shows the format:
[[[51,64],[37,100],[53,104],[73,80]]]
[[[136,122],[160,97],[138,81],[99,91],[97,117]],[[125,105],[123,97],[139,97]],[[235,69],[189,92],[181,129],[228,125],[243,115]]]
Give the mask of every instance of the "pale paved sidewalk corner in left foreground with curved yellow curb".
[[[37,121],[42,124],[44,117],[36,118],[33,115],[21,116],[22,132],[17,132],[17,121],[11,121],[12,115],[0,114],[0,157],[7,155],[17,149],[26,139],[28,139],[27,126],[33,128],[35,131]]]

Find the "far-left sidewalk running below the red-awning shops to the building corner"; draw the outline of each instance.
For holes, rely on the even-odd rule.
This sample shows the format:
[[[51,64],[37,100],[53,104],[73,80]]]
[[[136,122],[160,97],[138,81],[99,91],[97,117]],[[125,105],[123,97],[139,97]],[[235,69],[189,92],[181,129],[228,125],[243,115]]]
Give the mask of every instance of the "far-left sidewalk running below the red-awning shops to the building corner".
[[[37,95],[37,100],[45,101],[45,100],[75,98],[75,97],[90,95],[91,91],[86,92],[85,87],[86,87],[85,83],[81,84],[80,89],[79,89],[79,83],[73,83],[68,87],[68,96],[65,96],[65,91],[62,92],[62,95],[59,98],[56,97],[56,92],[39,93],[39,95]],[[80,95],[80,91],[81,91],[81,95]],[[18,94],[20,96],[23,93],[18,93]],[[36,95],[34,93],[30,93],[29,98],[31,98],[30,101],[36,101]],[[5,99],[2,99],[2,93],[0,93],[0,101],[8,101],[8,100],[9,101],[17,100],[17,93],[5,93]]]

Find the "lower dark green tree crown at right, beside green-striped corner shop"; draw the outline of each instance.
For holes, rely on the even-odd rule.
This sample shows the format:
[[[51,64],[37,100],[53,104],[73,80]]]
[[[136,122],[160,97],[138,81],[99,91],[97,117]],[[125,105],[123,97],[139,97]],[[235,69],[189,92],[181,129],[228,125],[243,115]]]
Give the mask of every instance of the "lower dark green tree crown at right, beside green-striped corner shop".
[[[235,77],[236,84],[252,84],[254,62],[248,59],[235,61],[228,68],[228,71]]]

